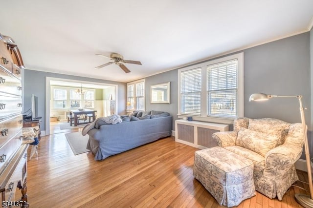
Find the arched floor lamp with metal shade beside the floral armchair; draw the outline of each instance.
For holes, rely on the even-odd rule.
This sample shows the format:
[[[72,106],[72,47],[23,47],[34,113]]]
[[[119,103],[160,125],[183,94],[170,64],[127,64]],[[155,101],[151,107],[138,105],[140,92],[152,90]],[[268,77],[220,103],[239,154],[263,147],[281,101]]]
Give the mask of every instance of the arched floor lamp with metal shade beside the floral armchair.
[[[304,111],[302,106],[302,96],[277,96],[277,95],[267,95],[264,93],[255,93],[252,94],[249,98],[249,101],[265,101],[269,98],[298,98],[300,104],[300,115],[301,115],[301,123],[304,133],[304,151],[305,158],[307,160],[307,168],[308,168],[308,178],[309,178],[309,187],[310,187],[310,196],[302,193],[296,193],[294,195],[296,201],[305,208],[313,208],[313,185],[312,185],[312,173],[311,173],[311,161],[310,161],[310,152],[309,152],[309,143],[308,143],[308,135],[307,135],[307,126],[305,124]]]

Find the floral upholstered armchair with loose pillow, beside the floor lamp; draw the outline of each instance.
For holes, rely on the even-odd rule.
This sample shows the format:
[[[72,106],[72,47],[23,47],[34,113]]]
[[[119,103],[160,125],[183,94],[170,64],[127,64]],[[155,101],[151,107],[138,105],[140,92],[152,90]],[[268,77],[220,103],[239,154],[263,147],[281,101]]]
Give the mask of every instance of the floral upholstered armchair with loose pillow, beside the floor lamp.
[[[294,163],[302,154],[303,128],[277,119],[238,118],[234,130],[216,132],[218,145],[250,159],[255,189],[268,198],[282,197],[298,180]]]

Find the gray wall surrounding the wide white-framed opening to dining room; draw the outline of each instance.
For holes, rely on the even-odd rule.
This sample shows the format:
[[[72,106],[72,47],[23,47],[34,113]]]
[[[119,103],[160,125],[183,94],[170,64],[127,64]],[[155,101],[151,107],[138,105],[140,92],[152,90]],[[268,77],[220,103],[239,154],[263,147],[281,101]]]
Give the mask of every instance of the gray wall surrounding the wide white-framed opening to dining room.
[[[118,85],[118,114],[125,114],[126,107],[126,83],[112,82],[107,80],[92,79],[87,77],[78,77],[65,74],[56,74],[49,72],[41,72],[34,70],[24,70],[23,77],[23,89],[24,89],[24,100],[23,100],[23,111],[31,108],[31,95],[35,94],[38,97],[38,115],[43,117],[41,130],[45,130],[45,78],[61,78],[68,80],[79,80],[79,81],[88,81],[95,83],[108,83],[108,84],[117,84]]]

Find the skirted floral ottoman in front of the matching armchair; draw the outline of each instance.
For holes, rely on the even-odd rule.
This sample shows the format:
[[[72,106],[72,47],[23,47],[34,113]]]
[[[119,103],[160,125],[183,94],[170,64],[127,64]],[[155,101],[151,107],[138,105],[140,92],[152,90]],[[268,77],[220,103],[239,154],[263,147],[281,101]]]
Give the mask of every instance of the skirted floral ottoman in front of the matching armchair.
[[[223,147],[196,151],[193,174],[220,205],[237,206],[255,196],[252,161]]]

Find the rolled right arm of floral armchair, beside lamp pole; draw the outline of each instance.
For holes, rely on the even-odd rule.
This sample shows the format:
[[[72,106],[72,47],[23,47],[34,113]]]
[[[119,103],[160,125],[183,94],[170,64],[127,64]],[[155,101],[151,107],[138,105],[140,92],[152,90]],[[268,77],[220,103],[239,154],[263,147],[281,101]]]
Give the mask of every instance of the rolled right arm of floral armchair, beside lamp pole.
[[[269,150],[265,155],[264,174],[268,172],[272,176],[283,175],[294,165],[301,154],[302,148],[300,146],[290,144],[284,144]]]

